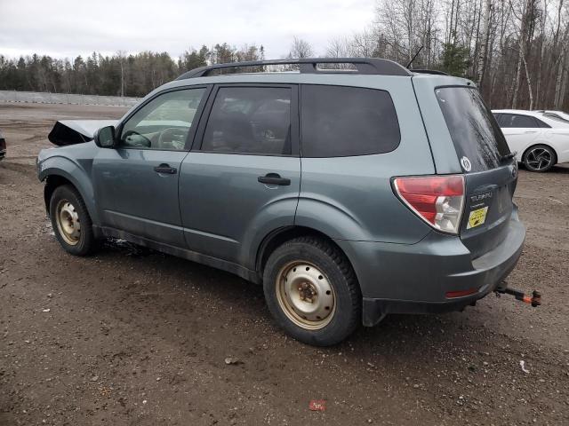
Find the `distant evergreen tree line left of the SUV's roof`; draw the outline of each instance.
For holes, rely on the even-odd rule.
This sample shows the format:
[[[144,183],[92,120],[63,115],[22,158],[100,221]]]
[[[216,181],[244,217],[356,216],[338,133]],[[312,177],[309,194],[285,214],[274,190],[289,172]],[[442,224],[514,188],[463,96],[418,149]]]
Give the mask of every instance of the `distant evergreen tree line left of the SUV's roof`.
[[[264,59],[264,55],[262,45],[237,49],[228,43],[190,49],[178,59],[165,51],[118,51],[112,56],[93,52],[87,58],[77,56],[73,60],[37,54],[8,59],[0,54],[0,90],[141,97],[190,69]]]

